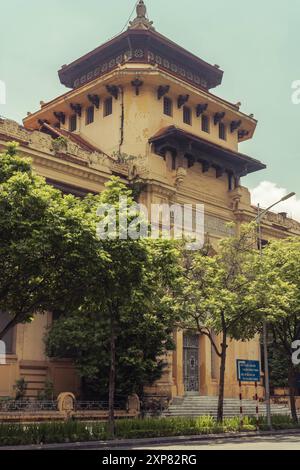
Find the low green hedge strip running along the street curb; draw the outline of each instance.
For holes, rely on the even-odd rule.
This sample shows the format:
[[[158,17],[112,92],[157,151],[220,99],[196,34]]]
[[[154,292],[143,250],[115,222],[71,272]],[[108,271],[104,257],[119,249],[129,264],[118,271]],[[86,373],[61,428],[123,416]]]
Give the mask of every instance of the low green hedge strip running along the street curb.
[[[124,419],[116,422],[116,438],[140,439],[152,437],[191,436],[222,432],[255,431],[253,419],[245,418],[241,428],[238,418],[227,419],[220,425],[210,416],[199,418]],[[107,424],[103,422],[0,424],[0,446],[87,442],[105,440]]]

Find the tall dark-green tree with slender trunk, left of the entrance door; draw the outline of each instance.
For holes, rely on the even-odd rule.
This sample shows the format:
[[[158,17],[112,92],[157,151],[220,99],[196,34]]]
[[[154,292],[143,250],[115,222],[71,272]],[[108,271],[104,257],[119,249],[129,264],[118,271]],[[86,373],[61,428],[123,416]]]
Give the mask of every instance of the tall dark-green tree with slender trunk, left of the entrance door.
[[[172,347],[172,330],[180,314],[174,295],[182,268],[175,242],[127,238],[129,226],[136,233],[142,226],[147,233],[148,226],[138,217],[132,191],[118,178],[90,203],[95,209],[107,208],[106,225],[118,233],[99,240],[108,259],[100,280],[103,292],[97,291],[99,279],[90,279],[85,310],[54,325],[48,351],[64,355],[69,344],[80,374],[102,381],[108,389],[113,436],[116,390],[141,392],[162,373],[160,358]]]

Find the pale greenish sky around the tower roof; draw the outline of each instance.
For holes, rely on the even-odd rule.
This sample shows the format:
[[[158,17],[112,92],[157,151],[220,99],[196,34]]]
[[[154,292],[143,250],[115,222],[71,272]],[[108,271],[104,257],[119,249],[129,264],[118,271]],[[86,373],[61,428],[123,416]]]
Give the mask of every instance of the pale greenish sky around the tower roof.
[[[145,0],[162,34],[224,70],[213,92],[242,102],[259,124],[240,151],[268,169],[244,178],[264,206],[295,191],[287,210],[300,220],[300,0]],[[21,122],[67,89],[57,70],[121,32],[135,0],[0,0],[0,115]],[[281,210],[281,208],[279,207]]]

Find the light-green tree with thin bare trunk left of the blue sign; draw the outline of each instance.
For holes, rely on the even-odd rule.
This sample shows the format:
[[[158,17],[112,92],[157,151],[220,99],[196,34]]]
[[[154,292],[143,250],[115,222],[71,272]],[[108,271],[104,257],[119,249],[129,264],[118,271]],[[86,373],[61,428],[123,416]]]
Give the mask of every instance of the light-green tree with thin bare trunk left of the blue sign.
[[[252,339],[278,301],[275,292],[267,297],[261,283],[255,237],[255,225],[242,226],[240,234],[220,242],[215,256],[205,250],[186,256],[186,327],[207,336],[220,358],[218,421],[223,420],[228,342]]]

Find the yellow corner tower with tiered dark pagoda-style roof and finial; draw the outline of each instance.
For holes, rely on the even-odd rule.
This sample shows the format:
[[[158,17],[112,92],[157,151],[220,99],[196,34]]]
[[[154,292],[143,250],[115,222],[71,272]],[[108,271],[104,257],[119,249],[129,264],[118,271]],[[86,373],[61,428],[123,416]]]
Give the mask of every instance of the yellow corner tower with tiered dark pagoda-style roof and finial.
[[[168,169],[200,165],[203,174],[225,175],[232,189],[264,168],[238,152],[253,136],[253,116],[211,91],[223,72],[158,33],[142,0],[125,32],[58,74],[71,90],[42,103],[25,127],[78,135],[112,157],[142,157],[147,176],[158,172],[165,183],[172,180]]]

